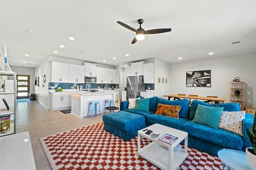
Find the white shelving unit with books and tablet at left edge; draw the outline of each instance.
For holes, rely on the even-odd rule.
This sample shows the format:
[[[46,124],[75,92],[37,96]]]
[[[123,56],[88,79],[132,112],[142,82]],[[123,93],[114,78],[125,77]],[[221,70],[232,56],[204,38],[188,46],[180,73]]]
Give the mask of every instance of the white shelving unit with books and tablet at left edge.
[[[0,100],[0,117],[10,116],[10,127],[6,133],[2,133],[2,125],[0,125],[0,137],[11,135],[16,133],[16,73],[15,72],[6,72],[6,71],[0,71],[0,76],[4,80],[8,80],[7,78],[9,76],[13,76],[14,80],[14,91],[13,92],[0,92],[1,100]],[[8,106],[10,106],[10,109],[7,110],[5,107],[5,104],[3,102],[3,98],[6,99],[6,102]],[[12,103],[13,102],[13,103]]]

